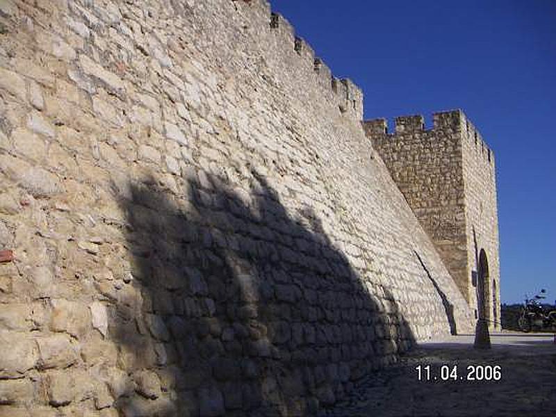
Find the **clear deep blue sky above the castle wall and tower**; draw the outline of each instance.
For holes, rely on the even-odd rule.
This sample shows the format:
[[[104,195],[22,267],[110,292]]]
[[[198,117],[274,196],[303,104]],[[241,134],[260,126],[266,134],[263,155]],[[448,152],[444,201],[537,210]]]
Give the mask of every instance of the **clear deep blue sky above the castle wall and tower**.
[[[502,302],[556,300],[556,1],[272,0],[365,117],[461,108],[496,155]]]

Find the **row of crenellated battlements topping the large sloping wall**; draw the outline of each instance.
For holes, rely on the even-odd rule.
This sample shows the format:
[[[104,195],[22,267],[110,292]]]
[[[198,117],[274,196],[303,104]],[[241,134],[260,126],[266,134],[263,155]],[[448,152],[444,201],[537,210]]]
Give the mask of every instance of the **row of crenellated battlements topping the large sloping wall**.
[[[288,60],[293,65],[292,71],[298,69],[311,70],[318,88],[322,91],[323,99],[338,106],[341,114],[354,120],[363,120],[363,92],[350,79],[338,79],[329,67],[316,56],[311,45],[295,34],[295,28],[280,13],[272,12],[270,3],[266,0],[232,0],[245,9],[254,19],[254,24],[268,24],[275,34],[277,46],[295,51],[297,59]]]

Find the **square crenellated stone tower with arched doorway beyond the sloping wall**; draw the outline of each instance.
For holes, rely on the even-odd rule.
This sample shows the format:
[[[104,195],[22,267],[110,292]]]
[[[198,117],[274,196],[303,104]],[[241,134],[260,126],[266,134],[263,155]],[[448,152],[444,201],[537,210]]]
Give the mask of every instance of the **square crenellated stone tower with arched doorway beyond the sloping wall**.
[[[500,327],[494,154],[462,111],[363,122],[392,178],[478,317]]]

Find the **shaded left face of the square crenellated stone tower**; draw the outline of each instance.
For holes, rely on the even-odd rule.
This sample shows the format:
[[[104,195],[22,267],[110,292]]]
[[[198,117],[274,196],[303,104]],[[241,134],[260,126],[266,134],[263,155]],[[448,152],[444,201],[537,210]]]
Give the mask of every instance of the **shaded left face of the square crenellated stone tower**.
[[[432,129],[425,129],[420,115],[398,117],[393,133],[387,132],[384,119],[363,126],[469,300],[463,157],[454,117],[436,113]]]

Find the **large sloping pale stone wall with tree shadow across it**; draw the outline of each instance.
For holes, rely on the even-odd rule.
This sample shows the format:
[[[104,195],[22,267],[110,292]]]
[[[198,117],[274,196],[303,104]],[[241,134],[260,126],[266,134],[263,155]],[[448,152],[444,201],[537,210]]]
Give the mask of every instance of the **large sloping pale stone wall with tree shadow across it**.
[[[470,329],[361,92],[265,1],[0,27],[0,416],[310,414]]]

